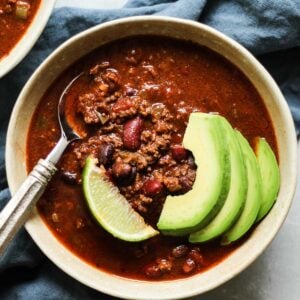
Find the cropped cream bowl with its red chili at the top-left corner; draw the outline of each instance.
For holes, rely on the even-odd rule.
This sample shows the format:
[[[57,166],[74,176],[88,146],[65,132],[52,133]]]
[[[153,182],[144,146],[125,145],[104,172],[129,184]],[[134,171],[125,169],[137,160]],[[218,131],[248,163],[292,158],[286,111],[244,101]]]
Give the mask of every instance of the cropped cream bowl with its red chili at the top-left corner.
[[[0,1],[0,78],[13,69],[41,35],[55,0]]]

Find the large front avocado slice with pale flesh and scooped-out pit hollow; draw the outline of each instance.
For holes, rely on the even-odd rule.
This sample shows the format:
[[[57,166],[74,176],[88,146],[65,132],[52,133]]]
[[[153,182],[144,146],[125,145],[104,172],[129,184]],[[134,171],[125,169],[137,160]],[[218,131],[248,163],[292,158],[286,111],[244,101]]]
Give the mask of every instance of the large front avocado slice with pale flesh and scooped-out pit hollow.
[[[193,188],[183,195],[169,195],[163,205],[158,229],[165,235],[187,235],[206,225],[221,209],[229,190],[229,152],[223,141],[221,119],[192,113],[183,146],[192,151],[198,166]]]

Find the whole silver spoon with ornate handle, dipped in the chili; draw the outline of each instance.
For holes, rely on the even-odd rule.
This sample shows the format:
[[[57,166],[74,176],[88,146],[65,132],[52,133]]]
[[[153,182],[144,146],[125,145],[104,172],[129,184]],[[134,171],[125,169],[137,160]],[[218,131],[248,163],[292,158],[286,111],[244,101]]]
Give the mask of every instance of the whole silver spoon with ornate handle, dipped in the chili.
[[[16,194],[10,199],[0,213],[0,255],[3,254],[9,242],[13,239],[19,229],[25,224],[30,213],[41,197],[45,188],[57,171],[55,165],[59,161],[67,146],[80,136],[68,124],[65,115],[65,95],[72,84],[82,75],[80,73],[73,78],[62,92],[58,102],[58,120],[61,136],[55,147],[46,157],[40,159],[37,165],[27,176]]]

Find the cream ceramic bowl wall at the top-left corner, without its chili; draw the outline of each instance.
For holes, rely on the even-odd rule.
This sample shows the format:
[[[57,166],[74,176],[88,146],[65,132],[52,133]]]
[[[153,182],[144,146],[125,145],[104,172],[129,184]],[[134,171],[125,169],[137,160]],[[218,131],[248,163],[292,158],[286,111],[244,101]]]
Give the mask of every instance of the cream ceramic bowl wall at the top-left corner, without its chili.
[[[41,1],[39,9],[24,35],[9,54],[0,59],[0,78],[12,70],[31,50],[47,24],[55,1],[56,0]]]

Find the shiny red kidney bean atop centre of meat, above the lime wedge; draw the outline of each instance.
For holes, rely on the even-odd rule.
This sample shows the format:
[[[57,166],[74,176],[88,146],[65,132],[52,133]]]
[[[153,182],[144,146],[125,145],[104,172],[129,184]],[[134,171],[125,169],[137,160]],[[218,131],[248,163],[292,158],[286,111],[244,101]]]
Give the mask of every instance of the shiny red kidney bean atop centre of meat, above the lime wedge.
[[[143,121],[136,117],[127,121],[123,128],[123,144],[128,150],[134,151],[140,147],[140,137],[143,129]]]

